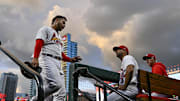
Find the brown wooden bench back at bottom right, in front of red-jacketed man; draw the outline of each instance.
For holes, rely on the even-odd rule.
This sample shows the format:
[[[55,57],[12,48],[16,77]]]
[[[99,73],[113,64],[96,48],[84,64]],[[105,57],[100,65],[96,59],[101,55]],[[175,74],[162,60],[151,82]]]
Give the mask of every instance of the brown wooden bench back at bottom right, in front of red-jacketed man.
[[[139,94],[136,96],[137,101],[178,101],[171,98],[172,95],[180,96],[180,80],[139,70],[138,82]],[[142,94],[142,90],[145,90],[148,94]],[[151,96],[152,91],[166,94],[171,98]]]

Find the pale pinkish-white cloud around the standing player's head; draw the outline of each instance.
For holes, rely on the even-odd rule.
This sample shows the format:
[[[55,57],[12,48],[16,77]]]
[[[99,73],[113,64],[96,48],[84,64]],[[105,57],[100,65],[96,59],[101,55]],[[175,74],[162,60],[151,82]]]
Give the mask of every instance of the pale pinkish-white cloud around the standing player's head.
[[[64,35],[66,33],[72,34],[72,39],[76,42],[83,41],[83,38],[80,37],[86,37],[85,33],[85,25],[84,25],[84,19],[83,14],[86,11],[85,9],[79,10],[79,13],[75,12],[79,9],[73,9],[73,8],[63,8],[59,5],[54,5],[53,9],[49,11],[48,16],[46,20],[44,21],[45,25],[51,25],[51,21],[53,17],[56,15],[63,15],[67,18],[66,27],[62,32],[60,32],[61,35]]]

